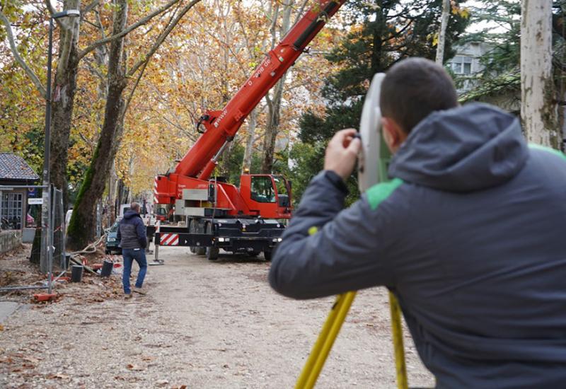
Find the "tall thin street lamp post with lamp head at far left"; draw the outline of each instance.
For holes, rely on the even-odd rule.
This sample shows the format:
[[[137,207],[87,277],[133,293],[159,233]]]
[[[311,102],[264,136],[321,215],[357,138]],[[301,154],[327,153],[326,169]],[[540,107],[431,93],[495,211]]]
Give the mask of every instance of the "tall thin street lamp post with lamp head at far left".
[[[52,242],[52,207],[51,207],[51,187],[50,187],[50,157],[51,157],[51,62],[53,48],[53,21],[54,19],[70,17],[76,18],[81,13],[78,9],[68,9],[66,11],[53,13],[49,19],[49,51],[47,52],[47,88],[45,93],[45,151],[43,158],[43,205],[42,205],[42,260],[40,268],[42,272],[47,272],[51,280],[51,267],[53,257]],[[51,231],[50,231],[51,230]],[[51,293],[51,281],[49,293]]]

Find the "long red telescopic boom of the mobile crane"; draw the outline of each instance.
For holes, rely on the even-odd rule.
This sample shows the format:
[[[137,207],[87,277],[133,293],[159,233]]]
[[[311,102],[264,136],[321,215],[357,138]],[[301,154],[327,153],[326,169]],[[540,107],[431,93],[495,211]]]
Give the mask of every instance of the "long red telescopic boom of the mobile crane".
[[[306,45],[346,0],[317,0],[316,4],[271,50],[222,110],[207,110],[197,124],[204,132],[175,167],[175,173],[207,180],[224,144],[231,141],[248,114],[293,66]]]

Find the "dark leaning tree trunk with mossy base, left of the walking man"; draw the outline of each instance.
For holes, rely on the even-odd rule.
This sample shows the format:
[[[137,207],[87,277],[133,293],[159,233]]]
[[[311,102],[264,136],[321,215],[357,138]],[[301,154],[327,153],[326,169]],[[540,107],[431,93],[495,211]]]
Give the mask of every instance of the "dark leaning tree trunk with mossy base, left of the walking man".
[[[112,34],[120,33],[127,23],[127,0],[117,1]],[[108,59],[108,95],[104,124],[94,152],[91,166],[86,170],[81,190],[76,198],[73,216],[69,223],[69,245],[80,249],[88,245],[96,233],[96,203],[102,196],[114,161],[117,145],[123,129],[125,99],[122,95],[126,85],[124,61],[124,38],[113,40]]]

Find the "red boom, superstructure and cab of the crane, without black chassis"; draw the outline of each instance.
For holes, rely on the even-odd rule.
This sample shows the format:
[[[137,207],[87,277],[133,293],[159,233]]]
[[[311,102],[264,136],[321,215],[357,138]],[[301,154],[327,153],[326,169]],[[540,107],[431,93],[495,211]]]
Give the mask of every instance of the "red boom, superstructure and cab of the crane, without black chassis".
[[[244,174],[241,176],[239,189],[209,178],[224,146],[233,139],[250,111],[294,64],[306,45],[344,2],[345,0],[318,0],[295,23],[279,45],[267,54],[224,109],[207,110],[200,117],[197,130],[200,132],[200,127],[204,127],[200,138],[177,164],[174,172],[156,177],[154,194],[157,204],[178,204],[180,199],[188,198],[183,196],[183,193],[189,193],[183,192],[184,190],[211,190],[210,185],[213,185],[214,199],[209,202],[200,200],[198,204],[192,200],[189,205],[224,209],[225,216],[261,216],[272,219],[288,219],[291,216],[290,187],[284,178]],[[275,194],[272,199],[257,192],[258,187],[267,187],[266,185],[272,185]],[[280,193],[285,190],[287,194]],[[285,196],[287,199],[284,199]]]

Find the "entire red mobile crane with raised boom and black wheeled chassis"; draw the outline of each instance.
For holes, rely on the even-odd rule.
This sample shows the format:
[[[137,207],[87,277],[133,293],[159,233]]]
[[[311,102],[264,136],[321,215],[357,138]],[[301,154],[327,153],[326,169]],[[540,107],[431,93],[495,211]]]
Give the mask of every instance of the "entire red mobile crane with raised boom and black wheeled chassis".
[[[190,246],[193,252],[206,252],[209,260],[216,260],[219,248],[223,248],[250,255],[263,252],[265,259],[270,260],[284,228],[277,219],[291,217],[289,182],[280,175],[243,174],[238,188],[210,176],[250,111],[344,2],[316,0],[226,107],[207,110],[200,117],[200,138],[174,171],[155,179],[156,204],[174,206],[174,214],[187,221],[183,227],[158,226],[156,249],[159,245]]]

